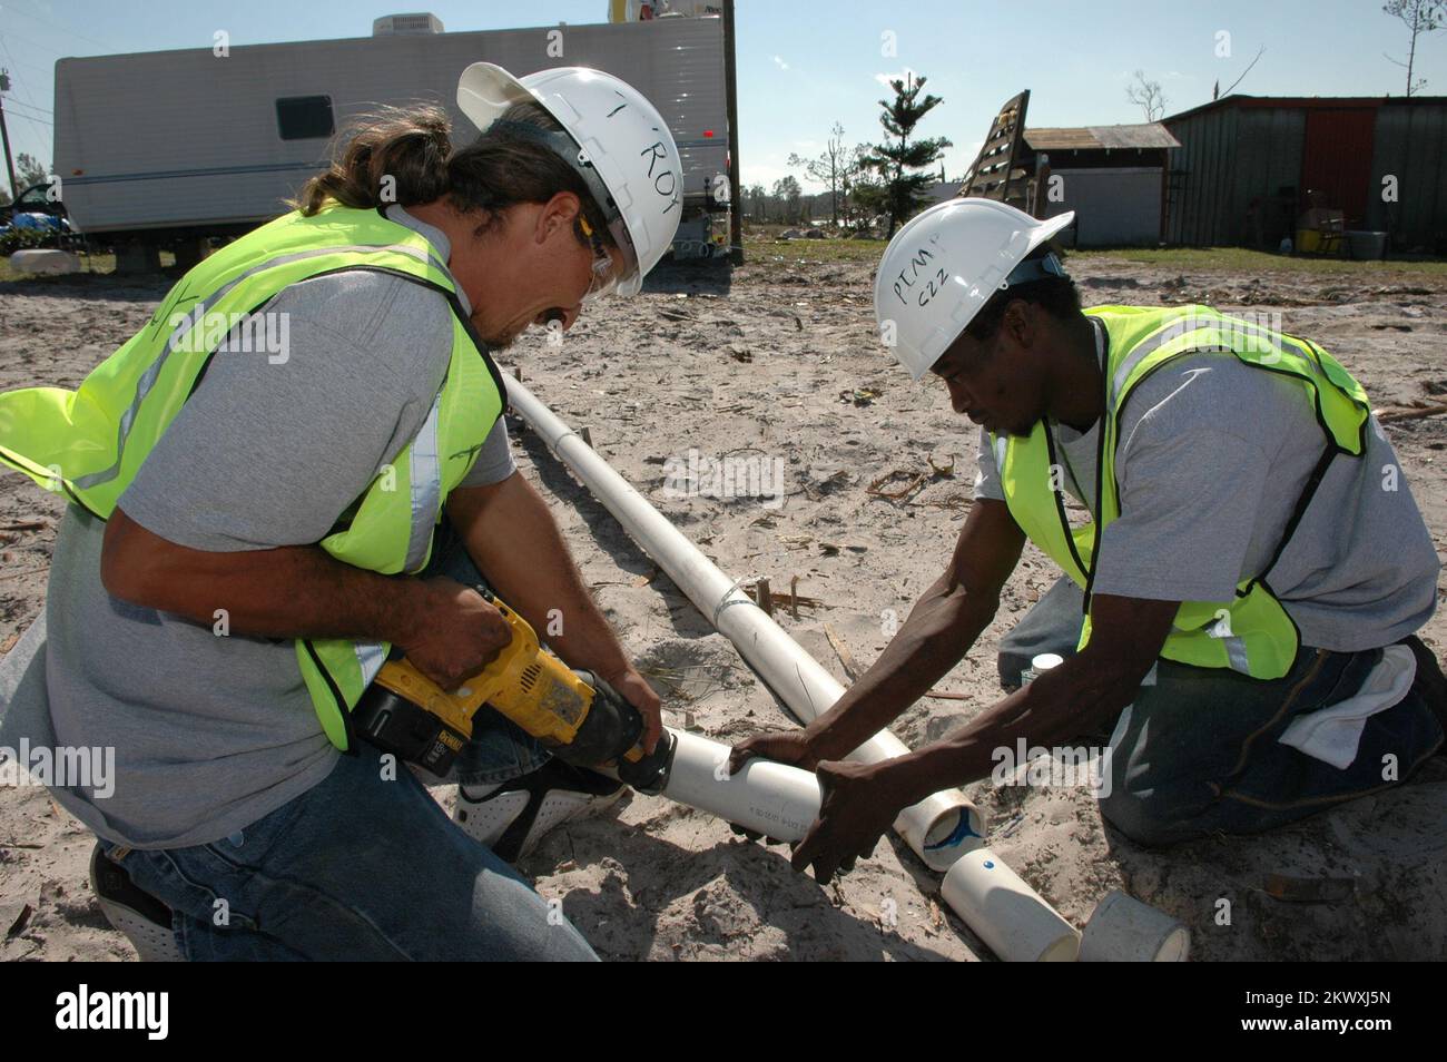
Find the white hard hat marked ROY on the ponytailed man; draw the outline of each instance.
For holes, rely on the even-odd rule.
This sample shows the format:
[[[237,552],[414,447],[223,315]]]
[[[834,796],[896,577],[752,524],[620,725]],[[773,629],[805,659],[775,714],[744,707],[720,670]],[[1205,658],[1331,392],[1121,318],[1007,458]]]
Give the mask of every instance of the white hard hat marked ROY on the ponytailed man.
[[[683,163],[667,123],[637,88],[587,67],[515,78],[492,62],[475,62],[457,81],[457,106],[482,132],[515,103],[537,103],[567,130],[573,143],[559,153],[593,191],[624,252],[619,294],[637,294],[673,246],[683,210]]]

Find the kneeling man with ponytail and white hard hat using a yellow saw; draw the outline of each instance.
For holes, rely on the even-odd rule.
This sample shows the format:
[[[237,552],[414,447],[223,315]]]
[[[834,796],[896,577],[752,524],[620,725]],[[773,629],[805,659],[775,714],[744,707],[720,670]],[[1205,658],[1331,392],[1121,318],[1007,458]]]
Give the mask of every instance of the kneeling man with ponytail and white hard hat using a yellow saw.
[[[376,116],[78,392],[0,395],[0,460],[69,502],[48,624],[0,676],[3,744],[113,752],[104,784],[52,791],[143,952],[595,958],[508,861],[616,783],[485,713],[459,828],[350,713],[391,647],[444,689],[496,655],[485,573],[657,741],[657,694],[512,466],[489,349],[637,292],[682,166],[598,71],[475,64],[457,103],[466,145],[437,109]],[[236,318],[287,349],[232,344]]]

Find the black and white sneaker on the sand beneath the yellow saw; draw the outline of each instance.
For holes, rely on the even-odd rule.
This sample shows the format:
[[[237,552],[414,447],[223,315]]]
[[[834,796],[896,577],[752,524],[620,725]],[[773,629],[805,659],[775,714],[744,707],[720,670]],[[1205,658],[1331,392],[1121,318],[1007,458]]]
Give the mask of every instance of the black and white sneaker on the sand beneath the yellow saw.
[[[602,812],[616,803],[624,789],[606,774],[554,757],[531,774],[491,790],[459,786],[453,822],[504,862],[517,862],[550,829]]]

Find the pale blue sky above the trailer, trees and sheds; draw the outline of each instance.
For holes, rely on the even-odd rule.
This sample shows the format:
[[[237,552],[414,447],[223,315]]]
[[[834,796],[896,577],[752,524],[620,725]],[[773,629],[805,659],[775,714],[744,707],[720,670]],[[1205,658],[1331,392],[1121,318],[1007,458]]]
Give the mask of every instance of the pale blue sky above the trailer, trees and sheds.
[[[6,95],[12,150],[51,161],[59,56],[210,48],[217,29],[233,45],[368,36],[373,17],[404,10],[431,10],[449,30],[475,30],[603,22],[606,0],[0,0],[0,67],[14,81]],[[886,33],[894,55],[883,54]],[[1230,55],[1218,55],[1223,42]],[[851,143],[875,139],[877,101],[888,91],[880,77],[906,68],[945,100],[920,132],[955,142],[946,169],[956,177],[994,111],[1022,88],[1030,88],[1032,126],[1139,122],[1126,100],[1134,69],[1160,81],[1169,114],[1208,101],[1217,78],[1224,90],[1260,46],[1265,55],[1237,91],[1405,88],[1405,72],[1383,52],[1405,59],[1406,30],[1379,0],[738,0],[742,178],[771,184],[792,172],[789,153],[819,152],[835,122]],[[1447,32],[1418,42],[1417,74],[1428,78],[1425,93],[1447,94]]]

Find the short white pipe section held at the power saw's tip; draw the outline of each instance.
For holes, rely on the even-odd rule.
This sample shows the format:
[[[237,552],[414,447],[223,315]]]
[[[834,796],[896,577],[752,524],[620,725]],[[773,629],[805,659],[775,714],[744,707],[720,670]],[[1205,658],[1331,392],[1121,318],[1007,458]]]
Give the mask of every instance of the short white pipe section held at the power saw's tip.
[[[823,791],[812,771],[750,760],[728,773],[729,747],[684,731],[677,741],[663,796],[697,807],[774,841],[802,841],[819,817]]]

